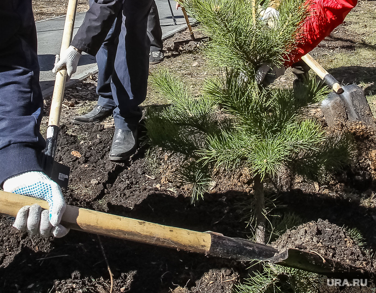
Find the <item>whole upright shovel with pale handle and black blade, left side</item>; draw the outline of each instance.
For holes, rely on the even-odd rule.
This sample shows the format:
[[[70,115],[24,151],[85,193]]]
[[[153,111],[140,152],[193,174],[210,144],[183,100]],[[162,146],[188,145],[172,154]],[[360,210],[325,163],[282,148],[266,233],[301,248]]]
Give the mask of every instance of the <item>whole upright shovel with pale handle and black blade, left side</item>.
[[[74,20],[76,15],[77,0],[69,0],[67,15],[65,17],[63,39],[61,42],[60,54],[69,47],[72,41]],[[55,181],[61,188],[68,187],[70,168],[56,162],[53,158],[56,152],[57,134],[59,132],[59,121],[61,104],[64,96],[67,71],[61,69],[56,73],[55,85],[53,88],[51,108],[49,111],[46,148],[44,149],[43,167],[45,173]]]

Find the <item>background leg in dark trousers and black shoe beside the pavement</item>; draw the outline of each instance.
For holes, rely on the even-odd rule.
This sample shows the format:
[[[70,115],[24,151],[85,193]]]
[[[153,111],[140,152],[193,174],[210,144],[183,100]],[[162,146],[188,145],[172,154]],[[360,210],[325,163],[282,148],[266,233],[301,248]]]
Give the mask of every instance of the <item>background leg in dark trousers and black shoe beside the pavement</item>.
[[[150,64],[157,64],[163,61],[162,29],[159,22],[157,4],[153,0],[147,18],[147,36],[150,39]]]

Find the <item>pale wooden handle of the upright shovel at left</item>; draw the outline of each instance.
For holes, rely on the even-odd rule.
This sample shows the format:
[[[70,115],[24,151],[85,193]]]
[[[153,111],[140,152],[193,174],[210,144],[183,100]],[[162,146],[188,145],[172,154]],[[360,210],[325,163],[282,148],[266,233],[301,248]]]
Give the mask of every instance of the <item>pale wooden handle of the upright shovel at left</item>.
[[[61,41],[60,55],[67,49],[72,41],[74,20],[76,15],[78,0],[69,0],[67,15],[65,17],[63,39]],[[51,109],[49,112],[48,126],[59,126],[61,104],[64,96],[65,82],[67,77],[66,69],[61,69],[56,73],[55,86],[53,88]]]

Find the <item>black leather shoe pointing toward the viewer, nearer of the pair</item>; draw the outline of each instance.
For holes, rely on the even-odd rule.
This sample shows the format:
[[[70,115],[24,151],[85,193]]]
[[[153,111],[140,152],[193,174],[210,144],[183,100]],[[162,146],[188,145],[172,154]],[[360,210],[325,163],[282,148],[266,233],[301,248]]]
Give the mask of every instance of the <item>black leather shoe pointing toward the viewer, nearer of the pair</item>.
[[[111,161],[125,160],[135,152],[136,148],[137,130],[115,129],[109,159]]]

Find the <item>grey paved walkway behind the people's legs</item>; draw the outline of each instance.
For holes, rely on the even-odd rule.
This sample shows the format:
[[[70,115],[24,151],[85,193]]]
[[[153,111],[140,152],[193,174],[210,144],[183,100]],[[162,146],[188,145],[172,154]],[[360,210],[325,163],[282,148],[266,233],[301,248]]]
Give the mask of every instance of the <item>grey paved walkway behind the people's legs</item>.
[[[176,25],[174,24],[168,1],[155,0],[155,2],[158,6],[159,18],[163,32],[163,39],[166,39],[175,34],[176,32],[183,30],[187,27],[182,10],[175,10],[176,2],[174,0],[171,0],[171,6],[173,8],[175,19],[177,21]],[[77,33],[77,30],[82,24],[84,17],[85,12],[77,13],[76,22],[74,26],[74,34]],[[55,61],[55,55],[58,54],[60,51],[64,21],[65,17],[61,16],[37,22],[38,59],[41,66],[40,83],[44,97],[51,95],[53,91],[55,76],[51,72],[51,69]],[[190,19],[190,21],[192,21],[192,19]],[[77,68],[77,72],[69,81],[68,86],[77,82],[78,80],[84,79],[88,75],[97,71],[95,57],[88,55],[86,53],[84,53],[83,56],[80,58],[80,62],[78,65],[79,66]]]

